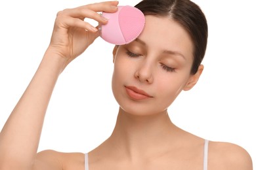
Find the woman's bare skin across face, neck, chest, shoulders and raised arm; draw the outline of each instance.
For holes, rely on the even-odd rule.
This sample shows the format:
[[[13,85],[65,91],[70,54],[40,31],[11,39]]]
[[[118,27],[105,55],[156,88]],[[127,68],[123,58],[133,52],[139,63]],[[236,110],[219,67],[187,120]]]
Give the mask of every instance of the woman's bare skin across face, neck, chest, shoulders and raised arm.
[[[83,153],[37,153],[37,147],[58,76],[98,37],[83,19],[106,24],[96,12],[116,12],[117,4],[95,3],[58,12],[49,48],[0,133],[1,170],[85,169]],[[175,126],[167,113],[177,95],[190,90],[203,71],[200,65],[196,75],[190,75],[192,51],[192,41],[179,24],[156,16],[146,16],[139,39],[114,48],[112,90],[120,108],[112,135],[89,152],[90,169],[203,168],[204,139]],[[150,97],[133,99],[125,86],[136,86]],[[236,144],[210,142],[208,169],[251,170],[252,162]]]

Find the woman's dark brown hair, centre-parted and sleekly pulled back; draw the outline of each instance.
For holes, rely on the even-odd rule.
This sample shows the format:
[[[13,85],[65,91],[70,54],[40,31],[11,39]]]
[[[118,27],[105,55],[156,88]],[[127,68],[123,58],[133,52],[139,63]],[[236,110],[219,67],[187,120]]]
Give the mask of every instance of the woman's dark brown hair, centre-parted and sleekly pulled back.
[[[190,0],[142,0],[135,5],[145,15],[169,16],[182,25],[194,43],[194,61],[190,73],[196,74],[205,55],[207,20],[198,5]]]

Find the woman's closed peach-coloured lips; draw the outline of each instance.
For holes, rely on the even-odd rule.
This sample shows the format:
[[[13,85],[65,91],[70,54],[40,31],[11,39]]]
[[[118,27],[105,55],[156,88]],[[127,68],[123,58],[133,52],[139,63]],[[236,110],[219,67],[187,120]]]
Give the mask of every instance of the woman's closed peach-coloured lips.
[[[148,93],[144,92],[143,90],[140,90],[134,86],[125,86],[125,90],[129,97],[135,100],[142,100],[142,99],[148,99],[151,98]]]

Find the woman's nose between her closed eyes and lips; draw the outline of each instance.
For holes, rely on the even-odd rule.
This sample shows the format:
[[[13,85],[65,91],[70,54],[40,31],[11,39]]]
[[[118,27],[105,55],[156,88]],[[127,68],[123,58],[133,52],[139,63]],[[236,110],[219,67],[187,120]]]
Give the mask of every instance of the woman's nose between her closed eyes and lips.
[[[152,75],[152,66],[147,65],[146,63],[140,65],[137,71],[135,71],[135,78],[137,78],[140,82],[152,84],[154,80]]]

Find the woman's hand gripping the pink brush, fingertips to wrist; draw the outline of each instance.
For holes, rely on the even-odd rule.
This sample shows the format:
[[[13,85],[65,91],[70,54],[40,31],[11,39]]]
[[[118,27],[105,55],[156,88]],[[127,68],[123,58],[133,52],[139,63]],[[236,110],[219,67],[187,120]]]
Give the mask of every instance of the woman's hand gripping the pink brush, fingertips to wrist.
[[[97,12],[116,12],[117,5],[118,1],[107,1],[58,12],[48,50],[64,58],[66,67],[99,36],[98,30],[85,22],[85,18],[106,24],[106,18]]]

